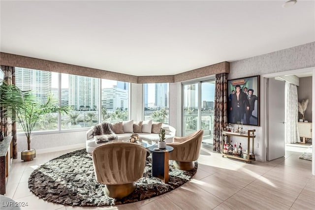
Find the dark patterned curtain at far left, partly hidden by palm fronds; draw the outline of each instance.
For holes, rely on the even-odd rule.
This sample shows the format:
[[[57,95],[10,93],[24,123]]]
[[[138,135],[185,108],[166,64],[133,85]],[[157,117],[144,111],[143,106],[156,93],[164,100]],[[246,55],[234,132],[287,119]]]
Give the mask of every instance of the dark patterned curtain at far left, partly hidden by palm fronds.
[[[4,72],[3,81],[7,84],[15,85],[15,68],[12,66],[1,65],[1,70]],[[16,159],[18,156],[18,147],[17,147],[17,137],[16,137],[16,122],[13,122],[8,118],[3,118],[5,108],[0,110],[0,129],[4,133],[4,136],[12,136],[13,144],[13,158]]]

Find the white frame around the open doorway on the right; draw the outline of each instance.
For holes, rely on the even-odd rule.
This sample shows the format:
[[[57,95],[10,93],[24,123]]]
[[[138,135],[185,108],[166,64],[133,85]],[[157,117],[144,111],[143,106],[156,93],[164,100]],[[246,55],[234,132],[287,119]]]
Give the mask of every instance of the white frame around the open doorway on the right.
[[[266,157],[266,148],[267,148],[267,137],[268,137],[268,121],[267,121],[267,78],[274,78],[283,75],[291,75],[291,74],[298,74],[298,73],[308,73],[312,72],[312,139],[315,139],[315,67],[310,68],[303,68],[303,69],[296,69],[290,71],[282,71],[276,72],[271,74],[263,74],[260,77],[260,107],[262,107],[260,111],[261,116],[261,161],[265,162]],[[314,144],[313,144],[314,145]],[[314,148],[314,147],[313,147]],[[312,154],[313,160],[315,160],[315,150],[313,149]],[[312,174],[315,175],[315,161],[312,161]]]

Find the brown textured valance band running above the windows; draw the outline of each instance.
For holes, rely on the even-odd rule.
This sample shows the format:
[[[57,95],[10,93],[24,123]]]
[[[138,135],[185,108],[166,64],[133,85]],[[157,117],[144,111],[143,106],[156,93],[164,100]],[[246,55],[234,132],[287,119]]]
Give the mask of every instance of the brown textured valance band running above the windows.
[[[221,62],[201,68],[193,69],[191,71],[183,72],[176,75],[163,76],[133,76],[129,74],[122,74],[112,71],[100,70],[95,68],[71,65],[50,60],[35,59],[25,56],[18,56],[14,54],[0,52],[0,64],[7,66],[24,67],[45,71],[54,71],[65,74],[73,74],[87,77],[95,77],[108,80],[118,80],[130,83],[173,83],[180,82],[199,77],[214,75],[218,73],[229,72],[229,62]]]

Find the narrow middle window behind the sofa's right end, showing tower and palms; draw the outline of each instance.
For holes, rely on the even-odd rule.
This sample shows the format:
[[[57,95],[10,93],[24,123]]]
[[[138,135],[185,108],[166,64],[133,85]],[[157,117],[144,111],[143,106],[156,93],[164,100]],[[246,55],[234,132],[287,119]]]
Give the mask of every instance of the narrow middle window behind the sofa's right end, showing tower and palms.
[[[144,120],[169,123],[169,84],[144,84]]]

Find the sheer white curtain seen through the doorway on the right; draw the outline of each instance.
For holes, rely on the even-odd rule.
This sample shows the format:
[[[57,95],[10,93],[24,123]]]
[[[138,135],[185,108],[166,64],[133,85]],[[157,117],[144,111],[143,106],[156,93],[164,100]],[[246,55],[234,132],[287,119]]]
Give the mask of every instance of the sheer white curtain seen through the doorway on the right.
[[[297,86],[285,81],[285,143],[300,142],[298,122]]]

